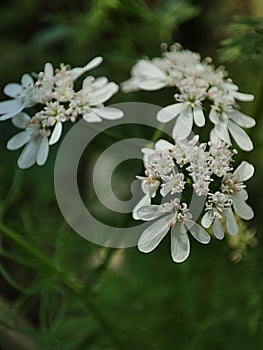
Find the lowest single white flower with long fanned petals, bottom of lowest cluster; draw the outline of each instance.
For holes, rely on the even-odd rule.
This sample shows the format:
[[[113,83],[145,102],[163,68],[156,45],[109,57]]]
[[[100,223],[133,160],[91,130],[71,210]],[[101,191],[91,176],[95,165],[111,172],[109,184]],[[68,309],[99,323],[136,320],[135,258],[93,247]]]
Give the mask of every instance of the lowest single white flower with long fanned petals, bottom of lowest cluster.
[[[190,241],[187,231],[200,243],[210,241],[209,234],[191,220],[191,214],[185,203],[178,199],[162,205],[146,205],[137,211],[141,220],[150,221],[158,218],[148,226],[138,241],[138,249],[144,253],[154,250],[171,229],[171,255],[175,262],[185,261],[190,253]],[[163,216],[164,215],[164,216]],[[161,217],[162,216],[162,217]],[[161,218],[159,218],[161,217]]]

